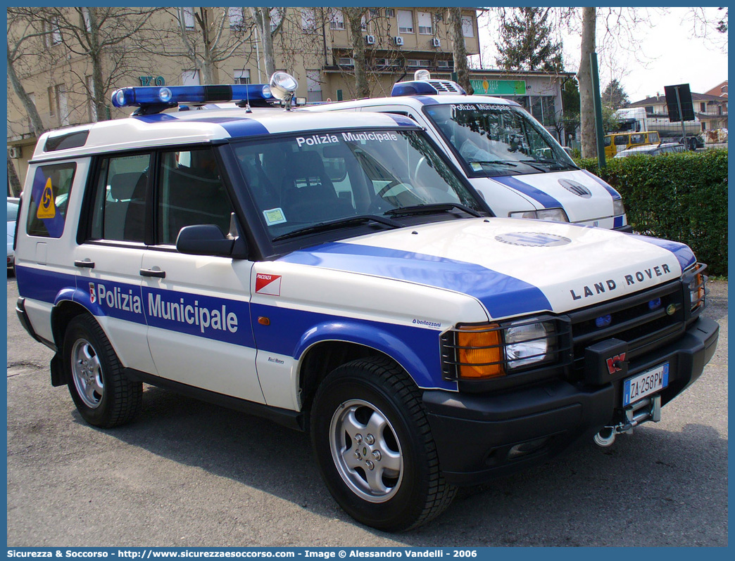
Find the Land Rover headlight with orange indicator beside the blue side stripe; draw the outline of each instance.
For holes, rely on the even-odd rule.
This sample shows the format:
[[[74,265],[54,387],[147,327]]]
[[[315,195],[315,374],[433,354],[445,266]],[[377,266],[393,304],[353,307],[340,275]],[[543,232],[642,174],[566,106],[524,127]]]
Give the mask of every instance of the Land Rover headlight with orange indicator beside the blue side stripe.
[[[559,333],[553,319],[458,325],[442,339],[442,354],[451,366],[445,372],[460,380],[505,376],[514,369],[554,362],[559,355]]]

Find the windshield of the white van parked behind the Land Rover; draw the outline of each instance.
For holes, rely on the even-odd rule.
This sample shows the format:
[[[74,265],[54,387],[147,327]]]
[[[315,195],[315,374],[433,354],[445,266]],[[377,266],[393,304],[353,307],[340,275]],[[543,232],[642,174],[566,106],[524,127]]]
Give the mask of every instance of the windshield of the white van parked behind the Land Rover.
[[[576,169],[551,134],[517,107],[447,104],[428,105],[423,110],[474,173],[492,176]]]

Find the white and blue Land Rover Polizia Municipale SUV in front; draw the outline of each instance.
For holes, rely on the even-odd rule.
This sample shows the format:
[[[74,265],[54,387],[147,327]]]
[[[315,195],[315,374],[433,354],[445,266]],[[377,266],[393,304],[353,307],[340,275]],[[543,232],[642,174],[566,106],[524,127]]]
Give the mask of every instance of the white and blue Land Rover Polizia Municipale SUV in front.
[[[38,140],[16,311],[87,422],[149,383],[307,431],[334,499],[395,531],[700,376],[689,247],[493,217],[414,120],[258,106],[284,84],[123,88],[132,116]]]

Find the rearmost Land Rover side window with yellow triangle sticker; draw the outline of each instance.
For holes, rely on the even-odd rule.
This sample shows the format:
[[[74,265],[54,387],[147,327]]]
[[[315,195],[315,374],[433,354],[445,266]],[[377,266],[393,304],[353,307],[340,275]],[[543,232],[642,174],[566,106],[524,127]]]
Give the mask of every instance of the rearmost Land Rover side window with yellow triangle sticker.
[[[31,188],[26,232],[29,236],[60,238],[76,164],[65,162],[36,168]]]

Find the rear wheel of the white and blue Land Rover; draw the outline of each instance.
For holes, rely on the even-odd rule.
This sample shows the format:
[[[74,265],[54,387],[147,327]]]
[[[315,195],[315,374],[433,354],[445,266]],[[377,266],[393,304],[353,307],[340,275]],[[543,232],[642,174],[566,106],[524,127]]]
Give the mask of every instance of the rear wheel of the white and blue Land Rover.
[[[69,322],[63,355],[71,399],[87,423],[111,428],[135,417],[143,403],[143,383],[123,375],[118,355],[92,316]]]

